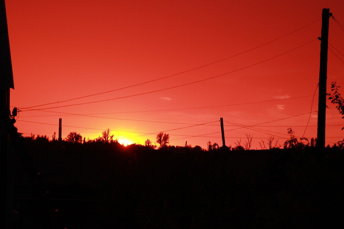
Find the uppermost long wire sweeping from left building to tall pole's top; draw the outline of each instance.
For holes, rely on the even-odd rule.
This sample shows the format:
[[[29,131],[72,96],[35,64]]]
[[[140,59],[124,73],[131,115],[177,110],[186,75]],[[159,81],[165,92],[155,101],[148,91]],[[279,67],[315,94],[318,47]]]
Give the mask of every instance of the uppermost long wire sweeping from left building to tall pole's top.
[[[321,19],[321,18],[320,18],[320,19]],[[224,61],[224,60],[233,58],[233,57],[235,57],[235,56],[238,56],[238,55],[247,53],[247,52],[249,52],[249,51],[252,51],[252,50],[254,50],[254,49],[257,49],[257,48],[259,48],[259,47],[262,47],[262,46],[264,46],[264,45],[270,44],[270,43],[272,43],[272,42],[274,42],[274,41],[277,41],[278,39],[281,39],[281,38],[286,37],[286,36],[288,36],[288,35],[290,35],[290,34],[292,34],[292,33],[297,32],[297,31],[301,30],[302,28],[307,27],[307,26],[309,26],[309,25],[311,25],[311,24],[313,24],[313,23],[319,21],[320,19],[317,19],[317,20],[315,20],[315,21],[313,21],[313,22],[311,22],[311,23],[309,23],[309,24],[307,24],[307,25],[305,25],[305,26],[303,26],[303,27],[301,27],[301,28],[298,28],[297,30],[294,30],[294,31],[292,31],[292,32],[290,32],[290,33],[288,33],[288,34],[286,34],[286,35],[283,35],[283,36],[281,36],[281,37],[278,37],[278,38],[276,38],[276,39],[273,39],[272,41],[269,41],[269,42],[267,42],[267,43],[265,43],[265,44],[256,46],[256,47],[254,47],[254,48],[248,49],[248,50],[246,50],[246,51],[243,51],[243,52],[241,52],[241,53],[235,54],[235,55],[233,55],[233,56],[226,57],[226,58],[224,58],[224,59],[217,60],[217,61],[211,62],[211,63],[209,63],[209,64],[206,64],[206,65],[202,65],[202,66],[200,66],[200,67],[192,68],[192,69],[189,69],[189,70],[186,70],[186,71],[182,71],[182,72],[179,72],[179,73],[175,73],[175,74],[170,75],[170,76],[165,76],[165,77],[162,77],[162,78],[159,78],[159,79],[150,80],[150,81],[146,81],[146,82],[143,82],[143,83],[138,83],[138,84],[135,84],[135,85],[130,85],[130,86],[123,87],[123,88],[119,88],[119,89],[115,89],[115,90],[100,92],[100,93],[96,93],[96,94],[92,94],[92,95],[85,95],[85,96],[81,96],[81,97],[74,98],[74,99],[69,99],[69,100],[64,100],[64,101],[58,101],[58,102],[52,102],[52,103],[46,103],[46,104],[41,104],[41,105],[36,105],[36,106],[25,107],[25,109],[27,109],[27,108],[33,108],[33,107],[37,107],[37,106],[50,105],[50,104],[55,104],[55,103],[62,103],[62,102],[67,102],[67,101],[76,100],[76,99],[86,98],[86,97],[89,97],[89,96],[94,96],[94,95],[109,93],[109,92],[113,92],[113,91],[118,91],[118,90],[122,90],[122,89],[126,89],[126,88],[135,87],[135,86],[138,86],[138,85],[142,85],[142,84],[146,84],[146,83],[150,83],[150,82],[154,82],[154,81],[166,79],[166,78],[169,78],[169,77],[177,76],[177,75],[180,75],[180,74],[183,74],[183,73],[186,73],[186,72],[189,72],[189,71],[193,71],[193,70],[196,70],[196,69],[200,69],[200,68],[203,68],[203,67],[206,67],[206,66],[209,66],[209,65],[213,65],[213,64],[216,64],[216,63],[218,63],[218,62],[221,62],[221,61]]]

